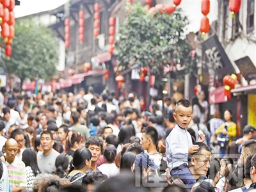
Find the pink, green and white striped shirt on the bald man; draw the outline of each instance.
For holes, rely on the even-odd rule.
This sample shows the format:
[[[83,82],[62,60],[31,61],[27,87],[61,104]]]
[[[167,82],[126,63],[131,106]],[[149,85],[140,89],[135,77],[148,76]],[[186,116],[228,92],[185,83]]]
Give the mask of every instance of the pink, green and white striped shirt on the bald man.
[[[27,178],[26,178],[26,166],[23,161],[19,161],[17,157],[12,164],[9,164],[7,161],[5,162],[8,175],[9,182],[11,188],[17,187],[26,187],[27,186]]]

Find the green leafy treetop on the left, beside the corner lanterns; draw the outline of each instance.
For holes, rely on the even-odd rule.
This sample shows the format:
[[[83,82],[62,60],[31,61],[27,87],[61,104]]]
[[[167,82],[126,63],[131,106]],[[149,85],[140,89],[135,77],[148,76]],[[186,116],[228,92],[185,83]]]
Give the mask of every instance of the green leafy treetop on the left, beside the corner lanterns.
[[[58,52],[51,29],[33,19],[17,20],[10,60],[0,66],[8,74],[15,74],[21,81],[29,78],[49,80],[56,74]]]

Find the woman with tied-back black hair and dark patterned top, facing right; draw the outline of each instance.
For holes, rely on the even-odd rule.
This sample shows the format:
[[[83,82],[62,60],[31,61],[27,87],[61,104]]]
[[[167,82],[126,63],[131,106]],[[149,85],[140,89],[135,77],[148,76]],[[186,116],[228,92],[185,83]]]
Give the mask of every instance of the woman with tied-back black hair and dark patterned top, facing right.
[[[92,164],[92,153],[88,148],[79,148],[74,152],[72,167],[69,170],[66,179],[70,180],[71,184],[82,185],[82,180],[85,172],[90,169]]]

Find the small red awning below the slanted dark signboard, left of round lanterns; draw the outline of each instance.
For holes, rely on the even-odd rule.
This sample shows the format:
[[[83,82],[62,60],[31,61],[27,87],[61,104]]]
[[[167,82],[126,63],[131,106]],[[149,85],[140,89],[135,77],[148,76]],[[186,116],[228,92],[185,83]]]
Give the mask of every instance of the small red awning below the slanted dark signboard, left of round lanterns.
[[[209,104],[218,104],[221,102],[227,102],[228,98],[225,95],[225,88],[224,86],[220,86],[209,93]]]

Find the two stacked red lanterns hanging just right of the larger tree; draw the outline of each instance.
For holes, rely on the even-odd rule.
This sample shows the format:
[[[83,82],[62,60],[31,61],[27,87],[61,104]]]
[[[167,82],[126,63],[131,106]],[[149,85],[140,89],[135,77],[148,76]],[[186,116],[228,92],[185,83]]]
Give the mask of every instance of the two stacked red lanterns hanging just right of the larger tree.
[[[201,3],[201,12],[204,15],[203,18],[201,19],[201,24],[200,24],[200,31],[202,33],[202,38],[205,37],[205,34],[210,31],[210,22],[207,17],[207,15],[210,12],[210,0],[202,0]]]

